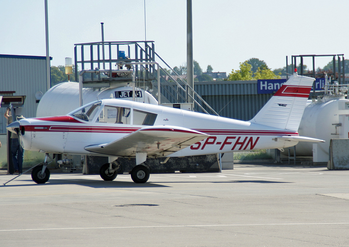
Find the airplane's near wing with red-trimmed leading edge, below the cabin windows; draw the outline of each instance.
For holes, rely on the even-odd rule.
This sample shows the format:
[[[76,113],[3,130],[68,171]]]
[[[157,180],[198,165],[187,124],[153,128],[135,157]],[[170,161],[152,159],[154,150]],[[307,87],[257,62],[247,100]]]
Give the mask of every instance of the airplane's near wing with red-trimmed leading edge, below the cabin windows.
[[[178,126],[149,126],[110,143],[90,145],[87,151],[97,154],[136,157],[141,164],[148,157],[167,156],[202,141],[210,135]]]

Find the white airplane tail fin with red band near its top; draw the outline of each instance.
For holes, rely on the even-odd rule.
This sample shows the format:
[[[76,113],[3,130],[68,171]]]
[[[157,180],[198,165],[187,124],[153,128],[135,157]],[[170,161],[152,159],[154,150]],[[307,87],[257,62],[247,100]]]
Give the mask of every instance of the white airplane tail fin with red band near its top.
[[[249,122],[298,131],[314,81],[294,73]]]

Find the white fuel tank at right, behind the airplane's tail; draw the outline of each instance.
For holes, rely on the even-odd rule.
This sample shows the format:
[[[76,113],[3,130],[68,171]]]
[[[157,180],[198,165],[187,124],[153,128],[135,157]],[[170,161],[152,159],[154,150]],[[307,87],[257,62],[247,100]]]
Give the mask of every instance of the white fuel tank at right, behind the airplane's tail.
[[[341,114],[349,114],[349,100],[345,99],[344,96],[326,95],[314,102],[308,100],[298,133],[300,136],[326,141],[316,144],[318,145],[316,153],[321,153],[319,157],[324,157],[322,158],[324,160],[318,160],[314,157],[314,162],[328,161],[330,140],[340,138],[336,124],[340,122]],[[313,156],[313,143],[299,142],[296,145],[296,155]]]

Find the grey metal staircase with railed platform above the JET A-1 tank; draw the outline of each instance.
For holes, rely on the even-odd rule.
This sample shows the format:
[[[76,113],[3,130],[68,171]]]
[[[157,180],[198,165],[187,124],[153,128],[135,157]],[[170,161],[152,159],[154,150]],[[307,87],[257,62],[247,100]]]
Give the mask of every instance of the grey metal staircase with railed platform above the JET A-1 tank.
[[[181,78],[156,52],[154,41],[94,42],[75,44],[75,68],[95,70],[96,73],[83,75],[84,88],[106,88],[115,83],[135,83],[135,87],[150,92],[155,98],[161,97],[161,103],[187,103],[194,101],[193,110],[218,115],[187,82]],[[158,62],[160,82],[157,81],[155,64]],[[115,73],[124,69],[122,64],[132,64],[134,76],[129,73]],[[121,65],[121,66],[120,66]],[[127,68],[127,65],[126,65]],[[98,71],[107,71],[98,73]],[[173,76],[178,78],[175,80]],[[75,69],[75,78],[79,78]],[[194,98],[189,94],[193,90]],[[159,94],[160,93],[160,94]]]

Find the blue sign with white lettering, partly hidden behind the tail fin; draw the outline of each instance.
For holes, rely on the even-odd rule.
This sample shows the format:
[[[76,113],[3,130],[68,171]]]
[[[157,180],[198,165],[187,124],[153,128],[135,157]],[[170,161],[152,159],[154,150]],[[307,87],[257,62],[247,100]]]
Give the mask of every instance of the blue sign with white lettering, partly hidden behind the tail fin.
[[[286,79],[257,80],[257,93],[275,93],[285,82]],[[315,78],[315,91],[322,90],[322,88],[324,88],[324,85],[325,78]]]

